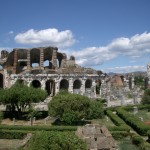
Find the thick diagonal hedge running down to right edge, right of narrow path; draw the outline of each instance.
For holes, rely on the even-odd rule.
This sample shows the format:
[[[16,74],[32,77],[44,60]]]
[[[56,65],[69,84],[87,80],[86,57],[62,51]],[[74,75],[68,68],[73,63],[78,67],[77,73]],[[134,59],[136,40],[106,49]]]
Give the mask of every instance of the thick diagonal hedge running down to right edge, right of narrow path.
[[[139,118],[137,118],[132,114],[129,114],[122,108],[118,108],[116,111],[118,116],[121,117],[128,125],[130,125],[140,135],[147,135],[147,131],[150,130],[150,126],[144,124]]]

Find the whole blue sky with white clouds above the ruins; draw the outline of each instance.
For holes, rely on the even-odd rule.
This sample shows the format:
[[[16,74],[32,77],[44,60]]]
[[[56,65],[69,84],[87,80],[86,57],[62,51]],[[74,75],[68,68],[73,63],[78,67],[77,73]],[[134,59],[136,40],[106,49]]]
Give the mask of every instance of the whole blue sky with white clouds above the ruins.
[[[45,46],[106,73],[146,71],[150,0],[0,0],[0,50]]]

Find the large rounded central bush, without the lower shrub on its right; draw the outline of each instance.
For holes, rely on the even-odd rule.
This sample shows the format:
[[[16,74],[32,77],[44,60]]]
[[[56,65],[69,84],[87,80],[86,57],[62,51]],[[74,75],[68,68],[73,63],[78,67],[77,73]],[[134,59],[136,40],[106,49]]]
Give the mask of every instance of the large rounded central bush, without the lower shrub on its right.
[[[78,94],[60,92],[49,102],[49,115],[66,124],[80,121],[88,114],[90,99]]]

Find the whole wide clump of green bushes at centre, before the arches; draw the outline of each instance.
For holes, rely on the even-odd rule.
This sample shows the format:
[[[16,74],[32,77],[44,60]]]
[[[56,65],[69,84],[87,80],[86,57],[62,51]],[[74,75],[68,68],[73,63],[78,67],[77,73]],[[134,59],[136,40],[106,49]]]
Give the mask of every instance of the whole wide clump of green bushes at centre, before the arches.
[[[83,118],[102,118],[102,107],[100,102],[86,96],[60,92],[49,103],[49,115],[71,125]]]

